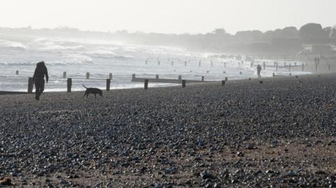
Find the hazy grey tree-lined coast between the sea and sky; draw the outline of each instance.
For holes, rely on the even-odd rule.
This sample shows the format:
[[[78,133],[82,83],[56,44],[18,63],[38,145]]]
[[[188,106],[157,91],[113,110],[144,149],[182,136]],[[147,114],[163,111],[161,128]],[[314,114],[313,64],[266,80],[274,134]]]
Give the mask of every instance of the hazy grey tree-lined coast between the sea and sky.
[[[38,36],[92,37],[143,45],[169,45],[190,50],[245,53],[297,53],[302,45],[335,45],[336,27],[304,24],[300,29],[285,27],[274,31],[238,31],[228,34],[225,29],[214,29],[207,34],[155,34],[126,30],[111,32],[80,31],[69,27],[31,29],[30,27],[0,28],[0,34],[30,34]]]

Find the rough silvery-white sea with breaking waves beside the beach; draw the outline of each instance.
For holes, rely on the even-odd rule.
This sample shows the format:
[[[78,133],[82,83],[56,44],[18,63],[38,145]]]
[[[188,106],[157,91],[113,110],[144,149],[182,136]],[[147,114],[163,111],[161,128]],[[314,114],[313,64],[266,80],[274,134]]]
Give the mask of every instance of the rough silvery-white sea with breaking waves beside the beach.
[[[34,74],[36,63],[44,61],[48,68],[49,82],[45,92],[66,91],[66,79],[72,78],[72,90],[86,87],[106,88],[106,79],[112,73],[111,89],[144,87],[144,83],[131,82],[132,74],[139,78],[205,81],[257,78],[256,65],[266,68],[262,78],[276,75],[307,74],[300,68],[283,67],[284,60],[253,59],[241,55],[214,52],[192,52],[167,46],[132,45],[116,41],[89,38],[15,37],[0,35],[0,91],[27,92],[28,78]],[[286,60],[286,64],[303,62]],[[282,66],[282,67],[281,67]],[[16,72],[18,71],[18,74]],[[66,72],[66,78],[63,73]],[[90,73],[90,79],[86,74]],[[175,84],[149,83],[149,87],[166,87]]]

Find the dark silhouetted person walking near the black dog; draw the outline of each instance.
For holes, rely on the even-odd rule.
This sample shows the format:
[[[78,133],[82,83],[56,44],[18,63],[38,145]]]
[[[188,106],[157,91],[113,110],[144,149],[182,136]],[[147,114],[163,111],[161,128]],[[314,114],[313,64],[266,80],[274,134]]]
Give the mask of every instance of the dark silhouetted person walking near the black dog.
[[[45,80],[48,83],[49,77],[48,77],[48,70],[45,66],[44,62],[38,62],[36,64],[34,76],[33,76],[33,82],[35,83],[35,99],[36,101],[40,100],[40,96],[44,91],[44,76]]]

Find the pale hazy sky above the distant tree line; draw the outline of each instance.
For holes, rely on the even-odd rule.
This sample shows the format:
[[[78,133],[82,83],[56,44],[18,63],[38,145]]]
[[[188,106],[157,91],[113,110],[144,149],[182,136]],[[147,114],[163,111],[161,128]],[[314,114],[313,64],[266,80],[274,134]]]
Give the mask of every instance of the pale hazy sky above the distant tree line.
[[[207,33],[333,26],[335,0],[0,0],[0,27]]]

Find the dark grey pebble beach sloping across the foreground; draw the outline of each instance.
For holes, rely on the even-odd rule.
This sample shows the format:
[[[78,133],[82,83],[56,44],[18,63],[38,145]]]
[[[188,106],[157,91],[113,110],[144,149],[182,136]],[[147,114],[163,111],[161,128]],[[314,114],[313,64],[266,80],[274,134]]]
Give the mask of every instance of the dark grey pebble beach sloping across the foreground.
[[[335,87],[323,74],[1,95],[0,187],[336,187]]]

